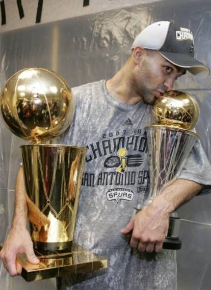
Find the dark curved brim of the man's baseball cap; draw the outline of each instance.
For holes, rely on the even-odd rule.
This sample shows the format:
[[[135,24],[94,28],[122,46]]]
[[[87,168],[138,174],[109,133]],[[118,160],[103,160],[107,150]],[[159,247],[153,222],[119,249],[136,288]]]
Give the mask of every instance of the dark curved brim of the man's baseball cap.
[[[159,50],[159,53],[170,63],[177,67],[186,68],[194,75],[209,74],[209,68],[199,61],[195,60],[192,56],[182,53],[174,53],[169,51]]]

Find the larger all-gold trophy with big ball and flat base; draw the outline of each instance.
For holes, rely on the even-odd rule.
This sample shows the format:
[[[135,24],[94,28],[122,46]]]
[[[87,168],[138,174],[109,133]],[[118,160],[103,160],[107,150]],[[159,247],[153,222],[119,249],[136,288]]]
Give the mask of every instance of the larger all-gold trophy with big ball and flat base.
[[[87,148],[49,144],[73,118],[68,83],[47,69],[23,69],[4,86],[1,113],[15,135],[30,141],[21,151],[31,238],[40,263],[17,254],[21,275],[32,281],[106,268],[106,259],[72,245]]]

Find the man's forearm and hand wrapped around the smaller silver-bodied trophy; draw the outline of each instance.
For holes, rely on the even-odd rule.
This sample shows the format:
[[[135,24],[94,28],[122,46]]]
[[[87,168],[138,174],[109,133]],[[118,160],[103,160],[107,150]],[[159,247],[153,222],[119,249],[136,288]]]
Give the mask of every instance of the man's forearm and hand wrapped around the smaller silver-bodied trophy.
[[[141,210],[121,230],[127,234],[133,230],[130,246],[139,251],[160,252],[169,226],[170,214],[193,198],[203,185],[178,179],[157,196],[149,206]]]

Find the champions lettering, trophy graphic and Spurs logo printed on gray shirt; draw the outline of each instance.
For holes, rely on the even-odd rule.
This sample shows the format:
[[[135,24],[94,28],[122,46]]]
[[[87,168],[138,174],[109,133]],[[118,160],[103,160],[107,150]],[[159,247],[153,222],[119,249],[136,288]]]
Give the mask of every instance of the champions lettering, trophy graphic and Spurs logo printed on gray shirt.
[[[103,133],[102,139],[87,145],[87,162],[101,158],[103,170],[89,170],[84,172],[82,185],[88,187],[108,187],[104,196],[109,202],[131,202],[134,200],[135,191],[130,187],[135,186],[136,192],[146,191],[149,182],[149,170],[140,167],[147,155],[147,136],[143,129],[123,129]],[[145,160],[145,161],[144,161]]]

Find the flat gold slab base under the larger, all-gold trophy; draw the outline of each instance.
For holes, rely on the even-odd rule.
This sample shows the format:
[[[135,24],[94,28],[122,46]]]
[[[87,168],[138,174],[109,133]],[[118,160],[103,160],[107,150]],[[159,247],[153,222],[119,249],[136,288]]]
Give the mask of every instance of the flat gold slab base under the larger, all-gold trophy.
[[[35,249],[35,254],[40,260],[39,264],[29,263],[25,253],[18,253],[16,256],[17,263],[22,266],[21,276],[27,282],[89,273],[106,269],[108,264],[107,258],[98,256],[75,244],[72,244],[71,252],[51,252],[51,254],[43,255]]]

